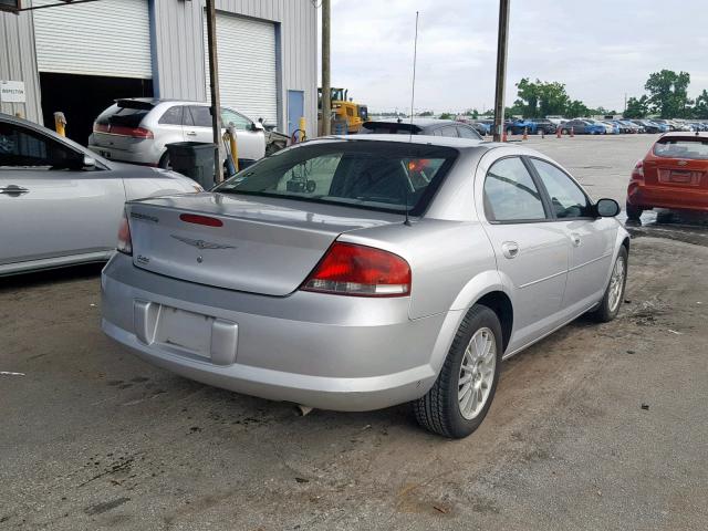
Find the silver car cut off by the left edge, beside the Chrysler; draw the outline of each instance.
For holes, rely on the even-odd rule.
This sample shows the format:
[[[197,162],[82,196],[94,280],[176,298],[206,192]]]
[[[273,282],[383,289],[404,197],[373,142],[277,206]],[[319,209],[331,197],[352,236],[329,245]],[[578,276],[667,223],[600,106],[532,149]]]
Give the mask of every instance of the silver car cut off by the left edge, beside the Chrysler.
[[[0,114],[0,275],[105,261],[126,199],[200,190],[179,174],[105,160]]]

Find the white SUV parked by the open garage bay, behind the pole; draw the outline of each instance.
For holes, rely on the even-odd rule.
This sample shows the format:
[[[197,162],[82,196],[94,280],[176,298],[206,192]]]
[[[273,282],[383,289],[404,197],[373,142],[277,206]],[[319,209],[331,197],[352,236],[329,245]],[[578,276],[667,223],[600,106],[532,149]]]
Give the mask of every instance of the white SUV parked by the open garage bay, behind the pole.
[[[221,123],[236,127],[238,157],[252,162],[266,155],[263,125],[221,107]],[[169,168],[167,144],[214,142],[209,104],[134,97],[117,100],[96,118],[88,148],[125,163]]]

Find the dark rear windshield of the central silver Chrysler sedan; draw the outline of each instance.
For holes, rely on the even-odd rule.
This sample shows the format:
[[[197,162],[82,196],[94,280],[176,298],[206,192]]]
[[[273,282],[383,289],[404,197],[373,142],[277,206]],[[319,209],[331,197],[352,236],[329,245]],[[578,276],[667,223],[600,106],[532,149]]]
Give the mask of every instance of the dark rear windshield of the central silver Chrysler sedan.
[[[450,147],[327,142],[279,152],[214,191],[281,197],[413,216],[425,212],[457,158]]]

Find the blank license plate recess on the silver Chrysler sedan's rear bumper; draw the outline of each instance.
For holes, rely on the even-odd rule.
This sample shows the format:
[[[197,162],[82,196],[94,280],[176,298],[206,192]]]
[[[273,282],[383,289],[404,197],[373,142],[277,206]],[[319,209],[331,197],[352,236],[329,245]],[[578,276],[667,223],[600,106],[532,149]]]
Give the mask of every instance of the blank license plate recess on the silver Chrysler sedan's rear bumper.
[[[231,321],[139,300],[133,312],[140,343],[217,365],[236,363],[238,325]]]

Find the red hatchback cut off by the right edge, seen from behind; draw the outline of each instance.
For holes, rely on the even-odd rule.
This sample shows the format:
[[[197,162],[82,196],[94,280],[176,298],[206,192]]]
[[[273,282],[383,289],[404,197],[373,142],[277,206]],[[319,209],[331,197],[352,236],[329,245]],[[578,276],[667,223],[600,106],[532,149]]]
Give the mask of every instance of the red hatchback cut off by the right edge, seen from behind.
[[[632,171],[627,217],[654,207],[708,212],[708,133],[667,133]]]

